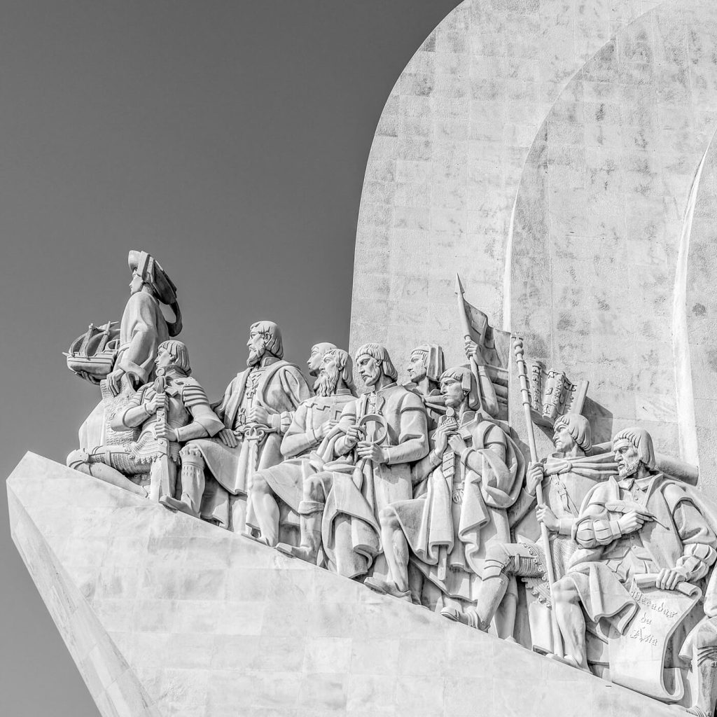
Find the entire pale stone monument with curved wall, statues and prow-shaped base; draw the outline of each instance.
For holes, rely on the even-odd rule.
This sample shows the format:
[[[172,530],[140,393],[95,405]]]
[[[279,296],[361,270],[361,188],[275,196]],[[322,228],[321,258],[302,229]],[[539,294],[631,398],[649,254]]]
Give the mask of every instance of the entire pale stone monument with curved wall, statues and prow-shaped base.
[[[716,57],[704,0],[460,4],[381,114],[313,385],[260,320],[212,402],[130,252],[67,353],[80,447],[8,480],[104,716],[713,716]]]

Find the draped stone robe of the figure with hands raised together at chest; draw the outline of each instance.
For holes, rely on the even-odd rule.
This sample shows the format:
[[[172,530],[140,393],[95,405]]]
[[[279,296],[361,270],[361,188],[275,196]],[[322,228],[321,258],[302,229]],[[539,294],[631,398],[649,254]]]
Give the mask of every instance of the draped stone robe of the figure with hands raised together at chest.
[[[424,458],[414,466],[414,480],[427,476],[419,497],[392,508],[419,570],[445,596],[474,602],[487,544],[510,541],[508,508],[520,493],[524,461],[481,414],[462,414],[458,433],[467,444],[462,455],[449,445],[438,467]]]

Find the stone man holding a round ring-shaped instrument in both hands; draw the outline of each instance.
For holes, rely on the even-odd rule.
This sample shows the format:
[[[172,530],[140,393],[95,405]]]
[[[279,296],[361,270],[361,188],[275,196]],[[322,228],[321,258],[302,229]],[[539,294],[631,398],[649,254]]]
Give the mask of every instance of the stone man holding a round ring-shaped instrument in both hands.
[[[320,548],[333,571],[353,578],[384,570],[379,512],[412,495],[411,462],[428,452],[427,418],[421,399],[397,386],[388,352],[366,343],[356,366],[369,391],[346,405],[333,446],[338,460],[303,484],[301,545],[282,552],[316,562]]]

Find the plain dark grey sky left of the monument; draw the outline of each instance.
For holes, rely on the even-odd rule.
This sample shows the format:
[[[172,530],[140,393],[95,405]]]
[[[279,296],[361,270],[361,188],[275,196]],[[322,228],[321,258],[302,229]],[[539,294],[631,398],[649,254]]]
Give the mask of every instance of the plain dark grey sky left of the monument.
[[[0,8],[2,475],[63,461],[97,389],[62,351],[120,318],[130,249],[179,287],[211,397],[247,328],[303,364],[346,345],[381,108],[457,0],[5,0]],[[62,506],[58,505],[58,510]],[[95,717],[0,501],[0,713]]]

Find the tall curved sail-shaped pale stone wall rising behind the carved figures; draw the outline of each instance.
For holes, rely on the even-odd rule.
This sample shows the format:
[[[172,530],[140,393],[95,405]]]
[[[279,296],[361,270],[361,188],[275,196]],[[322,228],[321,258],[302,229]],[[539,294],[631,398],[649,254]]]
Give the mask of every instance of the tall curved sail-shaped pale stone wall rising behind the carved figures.
[[[708,309],[693,311],[710,304],[675,285],[690,189],[717,127],[716,49],[707,0],[458,6],[379,120],[352,348],[383,341],[402,365],[432,340],[447,364],[462,360],[460,272],[467,298],[525,337],[528,359],[590,381],[597,440],[640,423],[662,452],[703,464],[715,493],[715,370],[705,351],[685,351],[713,341]],[[683,286],[701,272],[706,293],[716,264],[695,246]],[[685,396],[711,402],[696,423]]]

